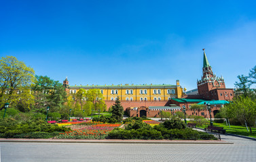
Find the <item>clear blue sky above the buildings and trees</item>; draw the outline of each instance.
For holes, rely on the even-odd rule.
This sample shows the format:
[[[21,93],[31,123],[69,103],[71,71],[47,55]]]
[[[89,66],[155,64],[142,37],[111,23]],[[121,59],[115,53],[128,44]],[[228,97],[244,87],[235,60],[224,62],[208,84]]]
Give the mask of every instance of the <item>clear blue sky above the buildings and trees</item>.
[[[79,84],[197,88],[202,49],[234,88],[256,65],[255,1],[1,1],[0,56]]]

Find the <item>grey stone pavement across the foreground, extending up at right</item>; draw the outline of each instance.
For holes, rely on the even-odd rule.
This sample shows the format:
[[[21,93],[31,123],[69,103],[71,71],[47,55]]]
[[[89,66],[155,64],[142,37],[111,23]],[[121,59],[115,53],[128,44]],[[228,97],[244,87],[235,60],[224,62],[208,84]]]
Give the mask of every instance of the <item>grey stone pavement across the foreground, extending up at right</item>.
[[[256,161],[256,141],[234,144],[1,142],[1,161]]]

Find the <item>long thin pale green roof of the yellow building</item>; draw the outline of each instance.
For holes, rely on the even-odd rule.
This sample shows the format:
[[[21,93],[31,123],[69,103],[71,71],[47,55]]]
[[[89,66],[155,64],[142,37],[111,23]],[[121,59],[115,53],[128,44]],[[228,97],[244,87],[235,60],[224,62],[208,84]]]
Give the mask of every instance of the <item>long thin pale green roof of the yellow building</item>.
[[[140,87],[165,87],[165,86],[176,86],[172,84],[118,84],[118,85],[87,85],[87,86],[69,86],[69,88],[81,87],[81,88],[96,88],[96,87],[132,87],[132,86],[140,86]]]

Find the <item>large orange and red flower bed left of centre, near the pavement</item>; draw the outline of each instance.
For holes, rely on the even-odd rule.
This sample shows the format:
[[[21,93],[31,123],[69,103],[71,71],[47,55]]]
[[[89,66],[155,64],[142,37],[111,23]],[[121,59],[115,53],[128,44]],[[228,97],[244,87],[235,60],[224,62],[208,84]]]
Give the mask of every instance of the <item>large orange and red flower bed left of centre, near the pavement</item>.
[[[61,139],[102,139],[116,127],[121,124],[103,124],[100,122],[88,122],[89,126],[86,125],[73,125],[67,126],[72,130],[65,133],[60,133],[56,138]]]

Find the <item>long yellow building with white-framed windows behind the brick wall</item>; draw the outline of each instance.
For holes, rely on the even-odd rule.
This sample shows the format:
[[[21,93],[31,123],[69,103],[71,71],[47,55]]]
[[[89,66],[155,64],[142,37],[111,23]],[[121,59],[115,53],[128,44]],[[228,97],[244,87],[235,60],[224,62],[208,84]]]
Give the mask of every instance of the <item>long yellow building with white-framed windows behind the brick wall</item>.
[[[106,101],[115,100],[117,97],[120,97],[120,100],[126,101],[162,101],[170,100],[171,98],[181,98],[183,96],[183,88],[179,85],[179,80],[176,80],[176,85],[118,84],[99,86],[92,84],[91,86],[68,86],[69,81],[66,79],[63,82],[63,85],[69,93],[76,93],[81,88],[84,88],[85,90],[92,88],[100,89]]]

